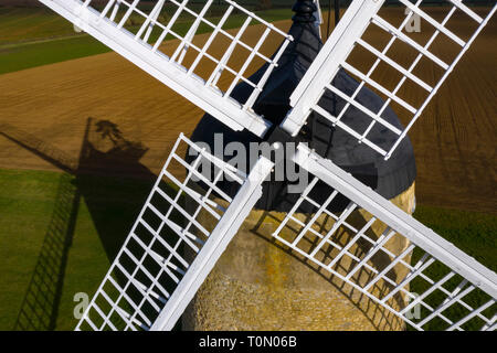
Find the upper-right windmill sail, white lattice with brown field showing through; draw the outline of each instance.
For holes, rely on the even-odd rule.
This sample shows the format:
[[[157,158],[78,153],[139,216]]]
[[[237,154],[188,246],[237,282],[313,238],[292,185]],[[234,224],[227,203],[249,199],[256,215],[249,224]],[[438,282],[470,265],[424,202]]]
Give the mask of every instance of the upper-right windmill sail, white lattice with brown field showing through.
[[[384,0],[352,1],[294,90],[293,109],[282,124],[286,131],[297,135],[315,111],[389,159],[497,10],[497,4],[469,8],[466,3],[472,1],[447,0],[447,7],[431,11],[433,8],[421,7],[422,0],[399,1],[405,8],[405,17],[393,20],[383,15],[389,10],[383,7]],[[417,30],[413,21],[417,22]],[[444,43],[444,51],[436,49],[438,43]],[[334,85],[341,71],[359,82],[353,92]],[[371,110],[367,99],[361,99],[362,89],[382,96],[383,106]],[[326,92],[346,101],[335,115],[320,104]],[[382,118],[390,107],[403,117],[405,128]],[[351,127],[343,118],[351,109],[363,115],[360,128]],[[390,142],[370,139],[373,129],[384,130]]]

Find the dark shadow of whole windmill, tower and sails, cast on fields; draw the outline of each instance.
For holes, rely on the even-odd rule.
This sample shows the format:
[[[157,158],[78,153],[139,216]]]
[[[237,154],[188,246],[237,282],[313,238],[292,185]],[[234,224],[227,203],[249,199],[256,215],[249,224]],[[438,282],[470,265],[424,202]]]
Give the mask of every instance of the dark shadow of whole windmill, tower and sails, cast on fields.
[[[139,162],[148,149],[140,142],[126,140],[118,126],[109,120],[88,118],[77,160],[8,124],[0,125],[0,135],[65,172],[13,328],[54,330],[81,200],[112,261],[157,176]]]

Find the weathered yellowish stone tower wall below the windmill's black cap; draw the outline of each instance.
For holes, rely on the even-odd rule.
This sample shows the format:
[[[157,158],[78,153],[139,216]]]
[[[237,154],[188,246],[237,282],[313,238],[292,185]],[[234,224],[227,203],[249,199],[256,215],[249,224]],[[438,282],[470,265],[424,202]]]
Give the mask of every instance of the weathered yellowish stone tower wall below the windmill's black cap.
[[[410,212],[414,203],[414,184],[392,202]],[[385,309],[353,290],[339,278],[320,270],[308,260],[288,253],[271,236],[285,214],[253,211],[232,243],[221,256],[183,314],[184,330],[403,330],[404,323]],[[309,217],[309,215],[299,215]],[[359,210],[350,222],[356,227],[366,224],[371,215]],[[332,224],[319,217],[317,226],[329,228]],[[372,237],[383,233],[385,225],[376,223]],[[322,231],[322,229],[321,229]],[[340,228],[334,242],[346,244],[352,236]],[[394,236],[387,247],[400,254],[409,243]],[[351,253],[360,255],[356,247]],[[326,252],[325,252],[326,253]],[[330,249],[332,257],[336,249]],[[390,263],[388,256],[372,259],[376,268]],[[347,271],[350,258],[336,267]],[[363,282],[371,276],[361,270],[355,276]],[[405,276],[405,269],[394,267],[392,276]],[[382,281],[374,291],[389,290]],[[393,298],[394,307],[404,307],[404,298]]]

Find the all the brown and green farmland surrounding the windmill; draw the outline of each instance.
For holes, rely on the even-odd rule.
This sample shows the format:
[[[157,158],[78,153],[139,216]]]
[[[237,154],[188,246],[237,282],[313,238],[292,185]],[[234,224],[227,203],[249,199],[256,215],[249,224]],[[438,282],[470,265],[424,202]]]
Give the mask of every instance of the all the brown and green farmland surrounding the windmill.
[[[290,15],[264,12],[285,31]],[[410,132],[415,217],[494,270],[496,40],[494,19]],[[44,9],[0,8],[0,330],[71,330],[74,295],[96,288],[173,141],[203,113]]]

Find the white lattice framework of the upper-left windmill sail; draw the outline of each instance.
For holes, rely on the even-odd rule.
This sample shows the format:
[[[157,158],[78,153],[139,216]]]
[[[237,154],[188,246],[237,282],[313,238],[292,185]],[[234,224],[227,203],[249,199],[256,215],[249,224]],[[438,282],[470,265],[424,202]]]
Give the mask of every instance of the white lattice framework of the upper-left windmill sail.
[[[247,129],[262,137],[271,127],[271,122],[254,113],[252,106],[262,92],[269,74],[277,66],[281,55],[293,39],[236,2],[222,0],[229,7],[223,18],[214,24],[205,18],[207,11],[214,0],[208,0],[200,13],[188,7],[189,0],[170,0],[169,2],[175,3],[178,8],[171,13],[171,19],[167,23],[158,21],[158,14],[163,7],[161,1],[157,2],[156,8],[149,13],[139,10],[140,0],[108,0],[102,11],[92,7],[92,0],[39,1],[232,129]],[[241,12],[245,17],[245,21],[236,34],[230,34],[223,29],[223,25],[234,10]],[[117,17],[118,11],[125,11],[121,18]],[[188,13],[188,15],[195,19],[186,35],[180,35],[172,30],[181,13]],[[144,19],[144,23],[136,34],[124,26],[131,15],[138,15]],[[264,32],[257,43],[251,46],[244,43],[243,34],[248,25],[254,22],[263,25]],[[193,43],[194,34],[200,24],[209,25],[212,29],[209,39],[201,47]],[[155,43],[149,43],[152,28],[158,29],[161,34]],[[171,56],[163,54],[160,47],[167,35],[180,40],[177,50]],[[223,35],[231,42],[230,47],[221,58],[209,54],[209,47],[218,35]],[[277,36],[282,42],[273,58],[261,53],[261,47],[271,35]],[[230,67],[230,58],[236,46],[250,51],[250,55],[239,69],[233,69]],[[186,67],[183,58],[188,50],[194,51],[197,56],[191,65]],[[248,79],[246,69],[255,57],[267,63],[267,68],[261,79],[253,83]],[[200,77],[195,74],[195,68],[202,60],[209,60],[216,64],[209,77]],[[223,72],[229,72],[234,76],[231,85],[224,92],[216,86],[216,81]],[[237,101],[231,96],[235,85],[240,82],[244,82],[252,89],[246,101]]]

